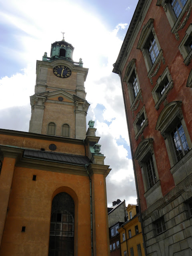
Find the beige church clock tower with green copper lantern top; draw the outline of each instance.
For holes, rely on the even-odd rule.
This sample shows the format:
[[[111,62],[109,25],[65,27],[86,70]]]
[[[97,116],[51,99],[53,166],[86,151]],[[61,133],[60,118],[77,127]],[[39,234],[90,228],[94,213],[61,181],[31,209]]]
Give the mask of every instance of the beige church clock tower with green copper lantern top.
[[[84,82],[88,68],[82,59],[73,61],[74,47],[64,37],[51,45],[50,57],[44,53],[36,64],[35,94],[30,97],[29,132],[70,138],[86,137]]]

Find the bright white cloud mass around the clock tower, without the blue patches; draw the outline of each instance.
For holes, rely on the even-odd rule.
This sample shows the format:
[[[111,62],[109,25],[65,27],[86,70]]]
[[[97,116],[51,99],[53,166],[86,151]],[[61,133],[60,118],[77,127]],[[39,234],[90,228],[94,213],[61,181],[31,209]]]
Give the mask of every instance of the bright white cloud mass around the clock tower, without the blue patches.
[[[58,15],[58,12],[52,11],[53,2],[50,0],[47,0],[46,4],[39,0],[34,0],[33,3],[26,0],[10,0],[12,8],[9,10],[12,13],[2,14],[4,23],[11,24],[24,32],[15,35],[18,36],[22,50],[15,50],[12,57],[17,60],[19,56],[18,61],[23,60],[28,66],[24,66],[17,74],[0,80],[0,110],[6,109],[6,112],[1,111],[1,113],[7,113],[4,118],[2,116],[0,118],[0,128],[28,129],[26,123],[30,119],[29,96],[34,94],[36,60],[41,60],[44,52],[48,52],[49,56],[51,43],[61,40],[61,31],[64,31],[65,40],[75,47],[74,61],[82,58],[84,67],[89,68],[85,83],[86,99],[91,103],[87,123],[89,118],[96,121],[96,135],[101,136],[99,143],[102,145],[102,154],[106,156],[105,164],[112,168],[107,178],[108,202],[112,202],[116,197],[121,200],[129,199],[129,196],[135,198],[135,192],[130,193],[135,189],[132,161],[128,159],[128,152],[124,146],[118,146],[116,142],[121,136],[129,145],[120,78],[112,73],[112,64],[116,61],[122,45],[122,40],[117,34],[120,30],[126,32],[128,24],[120,23],[113,31],[109,31],[94,12],[89,13],[85,8],[74,5],[68,0],[55,2],[60,9],[67,6],[72,12]],[[7,51],[6,54],[11,53]],[[97,120],[98,117],[94,112],[97,104],[104,106],[105,110],[101,114],[104,120],[111,122],[109,126]],[[15,120],[17,113],[23,111],[22,106],[26,106],[23,119],[21,120],[20,117],[23,125],[16,126],[12,120],[13,118]],[[10,107],[16,108],[17,111]],[[7,116],[10,117],[10,121]]]

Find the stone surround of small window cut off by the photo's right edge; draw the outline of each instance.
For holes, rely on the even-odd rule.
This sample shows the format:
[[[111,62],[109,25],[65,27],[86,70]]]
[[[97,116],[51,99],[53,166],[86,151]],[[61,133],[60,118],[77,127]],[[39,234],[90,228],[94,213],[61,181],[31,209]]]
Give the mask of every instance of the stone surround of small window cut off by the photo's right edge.
[[[190,47],[186,45],[188,39],[192,40],[192,23],[188,26],[188,29],[186,30],[186,35],[184,36],[183,40],[181,41],[178,47],[180,50],[180,53],[184,58],[184,63],[186,64],[186,66],[188,66],[192,58],[192,49],[190,49]]]

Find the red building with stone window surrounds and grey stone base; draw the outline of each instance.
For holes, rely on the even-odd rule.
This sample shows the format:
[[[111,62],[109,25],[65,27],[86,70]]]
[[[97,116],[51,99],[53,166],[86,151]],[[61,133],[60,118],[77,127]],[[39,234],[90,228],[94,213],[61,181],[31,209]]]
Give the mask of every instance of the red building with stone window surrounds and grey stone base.
[[[192,255],[191,9],[191,0],[139,0],[113,69],[147,255]]]

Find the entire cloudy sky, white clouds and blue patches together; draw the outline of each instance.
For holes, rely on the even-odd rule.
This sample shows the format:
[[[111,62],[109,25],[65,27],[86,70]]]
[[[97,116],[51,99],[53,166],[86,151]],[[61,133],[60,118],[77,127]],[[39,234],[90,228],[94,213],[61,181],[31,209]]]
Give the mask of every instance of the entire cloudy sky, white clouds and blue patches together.
[[[85,82],[87,114],[100,136],[108,206],[136,204],[136,188],[122,89],[112,73],[138,0],[0,0],[0,128],[28,132],[36,60],[64,38],[73,60],[89,68]]]

